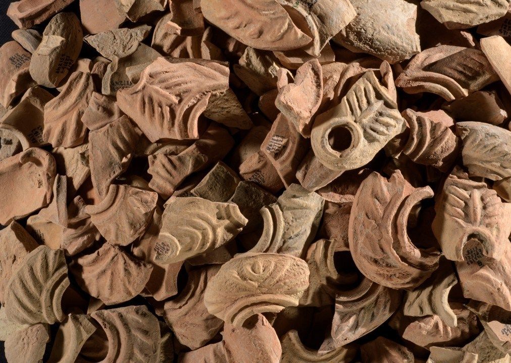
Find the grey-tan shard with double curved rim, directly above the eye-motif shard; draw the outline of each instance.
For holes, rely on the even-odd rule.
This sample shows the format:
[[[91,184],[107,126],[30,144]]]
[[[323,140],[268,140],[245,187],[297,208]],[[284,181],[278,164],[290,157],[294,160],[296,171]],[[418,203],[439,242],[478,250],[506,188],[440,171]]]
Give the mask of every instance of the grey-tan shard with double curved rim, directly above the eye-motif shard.
[[[317,193],[290,185],[276,203],[261,208],[263,235],[250,252],[304,257],[319,227],[323,204]]]

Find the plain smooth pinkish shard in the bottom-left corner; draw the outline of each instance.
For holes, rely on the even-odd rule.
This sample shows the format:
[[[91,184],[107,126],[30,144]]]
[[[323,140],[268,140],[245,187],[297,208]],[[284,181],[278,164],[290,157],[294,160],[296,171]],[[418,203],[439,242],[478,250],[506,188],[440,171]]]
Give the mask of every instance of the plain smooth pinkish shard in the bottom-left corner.
[[[9,363],[42,362],[46,343],[50,342],[48,326],[36,324],[13,332],[5,341],[5,357]]]

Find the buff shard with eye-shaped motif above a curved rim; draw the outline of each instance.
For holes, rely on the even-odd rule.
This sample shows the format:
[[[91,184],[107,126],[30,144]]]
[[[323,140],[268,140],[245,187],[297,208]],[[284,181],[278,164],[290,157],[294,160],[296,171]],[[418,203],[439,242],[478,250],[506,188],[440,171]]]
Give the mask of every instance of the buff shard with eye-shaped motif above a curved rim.
[[[224,263],[206,286],[204,304],[223,321],[241,326],[257,313],[297,306],[309,285],[307,263],[274,253],[247,253]]]

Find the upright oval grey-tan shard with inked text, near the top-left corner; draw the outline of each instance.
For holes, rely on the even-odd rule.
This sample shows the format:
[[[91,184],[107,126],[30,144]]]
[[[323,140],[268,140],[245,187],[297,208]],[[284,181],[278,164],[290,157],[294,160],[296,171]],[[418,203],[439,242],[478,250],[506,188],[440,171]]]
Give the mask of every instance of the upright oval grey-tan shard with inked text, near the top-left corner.
[[[74,13],[55,15],[42,33],[30,60],[30,75],[37,84],[57,87],[82,49],[82,27]]]

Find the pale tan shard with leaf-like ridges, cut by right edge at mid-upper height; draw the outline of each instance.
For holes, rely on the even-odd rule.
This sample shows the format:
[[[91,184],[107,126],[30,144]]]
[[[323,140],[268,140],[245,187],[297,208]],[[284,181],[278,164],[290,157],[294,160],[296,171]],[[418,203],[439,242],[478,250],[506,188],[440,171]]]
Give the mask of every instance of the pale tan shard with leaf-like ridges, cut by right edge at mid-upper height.
[[[480,122],[456,124],[463,142],[463,165],[471,176],[500,180],[511,176],[511,131]]]

